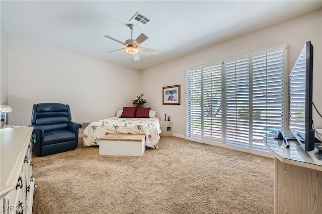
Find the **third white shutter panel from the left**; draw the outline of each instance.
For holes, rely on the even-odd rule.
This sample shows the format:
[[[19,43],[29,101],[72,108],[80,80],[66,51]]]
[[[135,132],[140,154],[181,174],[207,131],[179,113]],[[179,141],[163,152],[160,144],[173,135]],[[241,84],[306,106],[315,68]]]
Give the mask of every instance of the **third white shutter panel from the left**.
[[[249,148],[249,56],[225,61],[225,141]]]

